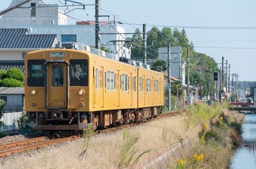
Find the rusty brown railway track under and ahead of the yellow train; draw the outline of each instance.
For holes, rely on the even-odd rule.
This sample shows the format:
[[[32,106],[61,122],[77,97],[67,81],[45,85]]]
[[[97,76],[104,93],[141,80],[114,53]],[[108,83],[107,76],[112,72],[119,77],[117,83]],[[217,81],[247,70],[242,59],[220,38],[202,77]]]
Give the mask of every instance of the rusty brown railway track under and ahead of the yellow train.
[[[154,119],[150,119],[147,121],[155,121],[155,120],[159,120],[162,118],[166,118],[166,117],[172,117],[172,116],[177,116],[180,114],[180,112],[185,111],[185,110],[179,110],[179,111],[174,111],[174,112],[167,112],[164,114],[159,115],[157,118]],[[134,125],[138,125],[147,121],[142,121],[140,123],[133,123],[133,124],[126,124],[121,126],[122,128],[128,127],[128,126],[134,126]],[[108,132],[108,131],[116,131],[120,129],[120,127],[113,127],[113,128],[108,128],[108,129],[103,129],[103,130],[98,130],[98,131],[94,131],[91,134],[92,135],[96,135],[99,133],[104,133],[104,132]],[[46,137],[37,137],[37,138],[32,138],[32,139],[27,139],[27,140],[22,140],[19,142],[13,142],[13,143],[8,143],[8,144],[2,144],[0,145],[0,158],[6,156],[6,155],[11,155],[12,153],[19,153],[19,152],[23,152],[25,150],[30,150],[30,149],[38,149],[44,146],[50,146],[50,145],[54,145],[54,144],[58,144],[61,142],[67,142],[70,140],[74,140],[80,138],[80,136],[70,136],[70,137],[66,137],[66,138],[60,138],[60,139],[56,139],[56,140],[50,140],[47,142],[44,142],[44,140],[46,139]],[[39,143],[38,143],[39,142]],[[12,149],[10,149],[12,148]],[[7,150],[5,150],[7,149]]]

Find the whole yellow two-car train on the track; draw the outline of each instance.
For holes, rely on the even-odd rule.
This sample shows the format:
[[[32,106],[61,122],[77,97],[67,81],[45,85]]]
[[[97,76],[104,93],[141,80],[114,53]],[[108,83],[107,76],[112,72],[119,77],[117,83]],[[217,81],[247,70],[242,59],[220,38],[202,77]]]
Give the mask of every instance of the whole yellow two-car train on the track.
[[[81,130],[155,117],[163,105],[163,73],[89,46],[29,52],[25,58],[27,125],[37,130]],[[108,58],[105,57],[108,55]]]

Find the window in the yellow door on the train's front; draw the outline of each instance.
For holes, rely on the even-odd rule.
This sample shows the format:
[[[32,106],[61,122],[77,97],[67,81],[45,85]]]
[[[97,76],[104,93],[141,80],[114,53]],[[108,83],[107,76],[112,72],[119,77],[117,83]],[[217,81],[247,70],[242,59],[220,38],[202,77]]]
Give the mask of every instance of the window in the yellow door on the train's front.
[[[52,65],[52,86],[63,86],[63,65]]]

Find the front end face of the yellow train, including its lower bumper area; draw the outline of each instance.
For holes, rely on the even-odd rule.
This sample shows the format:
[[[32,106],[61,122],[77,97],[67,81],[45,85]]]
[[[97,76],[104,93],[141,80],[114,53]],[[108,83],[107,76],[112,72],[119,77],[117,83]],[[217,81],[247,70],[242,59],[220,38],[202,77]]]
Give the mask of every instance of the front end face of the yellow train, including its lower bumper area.
[[[25,110],[36,130],[76,131],[93,122],[89,111],[90,53],[72,49],[29,52]]]

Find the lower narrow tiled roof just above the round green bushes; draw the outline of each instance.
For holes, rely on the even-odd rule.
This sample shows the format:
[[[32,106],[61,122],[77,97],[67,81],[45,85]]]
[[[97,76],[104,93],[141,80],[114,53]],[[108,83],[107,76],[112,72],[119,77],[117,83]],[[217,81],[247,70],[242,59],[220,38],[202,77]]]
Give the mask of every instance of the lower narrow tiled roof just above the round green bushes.
[[[8,71],[11,68],[17,68],[24,74],[25,72],[25,61],[0,61],[0,70]]]

